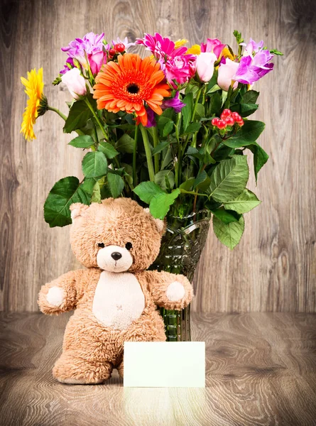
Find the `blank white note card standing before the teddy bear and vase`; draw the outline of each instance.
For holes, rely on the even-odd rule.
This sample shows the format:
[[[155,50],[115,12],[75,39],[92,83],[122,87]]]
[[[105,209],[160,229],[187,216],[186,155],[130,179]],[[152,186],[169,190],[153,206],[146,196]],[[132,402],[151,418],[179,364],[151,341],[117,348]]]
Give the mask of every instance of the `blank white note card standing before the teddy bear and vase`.
[[[124,387],[205,388],[205,342],[125,342]]]

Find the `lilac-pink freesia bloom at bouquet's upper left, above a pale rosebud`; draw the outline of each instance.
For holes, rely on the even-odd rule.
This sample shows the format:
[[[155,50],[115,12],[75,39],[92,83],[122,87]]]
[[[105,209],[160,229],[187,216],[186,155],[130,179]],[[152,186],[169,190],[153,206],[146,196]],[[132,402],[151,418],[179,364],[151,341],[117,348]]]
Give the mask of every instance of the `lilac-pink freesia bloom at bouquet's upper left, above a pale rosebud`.
[[[77,59],[84,68],[87,68],[88,60],[92,74],[96,74],[107,61],[103,40],[104,33],[100,35],[87,33],[83,38],[72,40],[66,48],[62,48],[62,52],[66,52],[70,58]]]

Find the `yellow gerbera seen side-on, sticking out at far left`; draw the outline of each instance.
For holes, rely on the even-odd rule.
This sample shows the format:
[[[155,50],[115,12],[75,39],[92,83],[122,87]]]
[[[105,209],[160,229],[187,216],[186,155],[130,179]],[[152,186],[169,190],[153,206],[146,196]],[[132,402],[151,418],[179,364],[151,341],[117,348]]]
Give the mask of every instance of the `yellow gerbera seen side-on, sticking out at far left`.
[[[43,115],[46,111],[47,100],[43,95],[43,68],[36,69],[28,72],[28,78],[21,77],[22,84],[26,87],[26,94],[28,95],[28,104],[23,113],[23,121],[21,124],[21,132],[26,140],[31,141],[36,139],[33,131],[33,126],[39,115]]]

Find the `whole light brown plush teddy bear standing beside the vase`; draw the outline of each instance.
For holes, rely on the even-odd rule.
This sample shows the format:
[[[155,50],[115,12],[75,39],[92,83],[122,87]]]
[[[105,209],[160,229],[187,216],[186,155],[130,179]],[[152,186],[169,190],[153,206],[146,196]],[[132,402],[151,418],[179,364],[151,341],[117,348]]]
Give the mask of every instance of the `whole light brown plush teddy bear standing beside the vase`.
[[[85,269],[43,285],[44,314],[75,310],[53,367],[61,383],[102,383],[124,376],[124,342],[163,342],[159,307],[182,310],[193,297],[184,275],[147,271],[160,250],[165,222],[129,198],[70,205],[70,244]]]

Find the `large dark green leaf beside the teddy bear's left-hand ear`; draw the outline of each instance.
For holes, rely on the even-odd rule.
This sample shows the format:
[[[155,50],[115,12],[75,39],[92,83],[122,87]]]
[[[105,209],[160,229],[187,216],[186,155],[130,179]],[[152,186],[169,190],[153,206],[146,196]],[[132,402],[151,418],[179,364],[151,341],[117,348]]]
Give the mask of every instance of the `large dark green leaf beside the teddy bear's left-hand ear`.
[[[69,206],[73,202],[89,204],[90,197],[75,176],[62,178],[50,190],[44,204],[44,219],[50,225],[65,226],[72,223]]]

